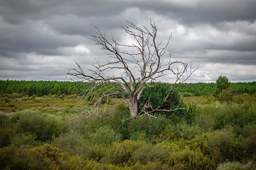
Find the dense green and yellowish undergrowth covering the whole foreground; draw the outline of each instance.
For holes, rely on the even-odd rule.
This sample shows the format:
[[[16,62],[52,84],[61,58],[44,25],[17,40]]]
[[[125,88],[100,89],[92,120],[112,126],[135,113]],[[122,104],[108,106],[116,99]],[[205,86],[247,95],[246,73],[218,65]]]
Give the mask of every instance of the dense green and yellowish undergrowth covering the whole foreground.
[[[256,97],[240,97],[184,97],[183,115],[123,122],[119,99],[101,117],[69,121],[84,112],[76,96],[2,94],[0,168],[255,169]]]

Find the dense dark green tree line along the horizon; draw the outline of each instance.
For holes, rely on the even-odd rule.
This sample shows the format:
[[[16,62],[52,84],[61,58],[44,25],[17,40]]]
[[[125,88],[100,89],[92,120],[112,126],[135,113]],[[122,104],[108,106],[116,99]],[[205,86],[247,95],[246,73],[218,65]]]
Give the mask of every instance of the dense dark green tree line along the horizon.
[[[77,82],[59,81],[26,81],[26,80],[0,80],[0,94],[23,94],[23,95],[73,95],[79,92]],[[254,94],[256,82],[230,83],[234,94]],[[206,96],[213,95],[216,83],[189,83],[179,88],[179,92],[185,95]]]

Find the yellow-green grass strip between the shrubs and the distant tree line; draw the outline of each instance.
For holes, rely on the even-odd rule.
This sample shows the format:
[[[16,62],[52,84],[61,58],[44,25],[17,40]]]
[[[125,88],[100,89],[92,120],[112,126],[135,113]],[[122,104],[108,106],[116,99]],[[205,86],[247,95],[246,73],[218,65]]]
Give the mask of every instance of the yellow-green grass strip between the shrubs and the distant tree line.
[[[236,96],[237,97],[237,96]],[[61,99],[62,98],[62,99]],[[256,94],[243,94],[241,98],[247,104],[256,103]],[[57,113],[63,111],[65,107],[73,108],[80,104],[81,99],[75,95],[59,97],[52,96],[22,96],[20,94],[1,94],[0,95],[0,113],[11,114],[24,109],[32,109],[44,113]],[[196,103],[199,106],[212,104],[216,100],[213,96],[190,96],[183,97],[185,103]],[[122,103],[121,99],[111,99],[109,105]],[[79,108],[85,107],[86,102],[82,102]]]

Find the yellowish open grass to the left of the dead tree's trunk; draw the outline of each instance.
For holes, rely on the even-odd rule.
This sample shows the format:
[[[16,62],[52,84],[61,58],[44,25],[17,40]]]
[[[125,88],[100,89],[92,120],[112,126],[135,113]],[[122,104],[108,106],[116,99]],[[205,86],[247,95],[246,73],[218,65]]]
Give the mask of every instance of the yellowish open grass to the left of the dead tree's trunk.
[[[43,113],[58,113],[62,112],[66,107],[69,108],[84,108],[86,101],[83,101],[81,105],[80,98],[74,95],[59,97],[56,95],[52,96],[22,96],[16,95],[0,95],[0,113],[11,116],[14,112],[22,111],[24,109],[31,109],[34,111],[40,111]],[[111,99],[109,105],[114,106],[115,104],[122,103],[121,99]],[[79,106],[78,106],[79,105]],[[101,105],[100,109],[104,109],[104,105]],[[110,109],[111,112],[112,109]]]

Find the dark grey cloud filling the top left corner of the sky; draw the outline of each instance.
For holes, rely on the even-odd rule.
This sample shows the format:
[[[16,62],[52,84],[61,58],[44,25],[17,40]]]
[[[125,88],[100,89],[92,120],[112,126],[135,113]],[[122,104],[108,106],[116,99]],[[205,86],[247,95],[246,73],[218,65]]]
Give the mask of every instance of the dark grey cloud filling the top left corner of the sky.
[[[52,16],[76,15],[80,17],[117,15],[127,8],[126,4],[111,1],[29,1],[2,0],[0,14],[10,24],[20,24],[27,20],[44,20]],[[128,4],[129,5],[129,4]]]

